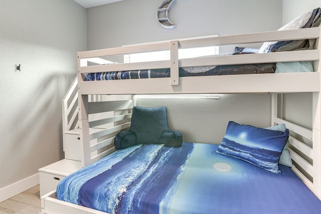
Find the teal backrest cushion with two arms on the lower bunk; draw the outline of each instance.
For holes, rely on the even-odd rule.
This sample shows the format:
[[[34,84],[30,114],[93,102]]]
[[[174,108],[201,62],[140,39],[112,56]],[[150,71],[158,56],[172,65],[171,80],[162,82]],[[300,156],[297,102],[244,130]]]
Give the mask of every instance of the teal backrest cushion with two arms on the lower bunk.
[[[179,131],[170,130],[168,127],[166,107],[134,106],[130,128],[120,131],[116,135],[115,147],[122,149],[144,143],[179,147],[182,142],[182,134]]]

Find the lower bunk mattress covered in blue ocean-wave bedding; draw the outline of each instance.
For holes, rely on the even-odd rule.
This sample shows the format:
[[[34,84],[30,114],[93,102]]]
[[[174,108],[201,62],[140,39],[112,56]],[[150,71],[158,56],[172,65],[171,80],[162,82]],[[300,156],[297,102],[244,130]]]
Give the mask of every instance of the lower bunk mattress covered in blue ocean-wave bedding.
[[[287,167],[271,173],[216,153],[218,145],[136,145],[64,178],[60,200],[109,213],[320,213]]]

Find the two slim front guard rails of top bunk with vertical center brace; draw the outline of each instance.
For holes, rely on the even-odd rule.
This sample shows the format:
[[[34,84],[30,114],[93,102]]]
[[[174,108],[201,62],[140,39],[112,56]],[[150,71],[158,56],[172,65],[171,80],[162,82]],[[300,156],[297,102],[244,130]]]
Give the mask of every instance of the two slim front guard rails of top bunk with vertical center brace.
[[[179,85],[179,67],[191,66],[213,66],[213,65],[236,65],[249,63],[270,63],[270,62],[294,62],[294,61],[314,61],[319,59],[319,50],[292,51],[278,53],[264,53],[255,56],[233,55],[233,56],[216,56],[203,57],[194,59],[180,59],[178,49],[205,47],[205,46],[222,46],[233,44],[260,43],[269,41],[286,41],[300,39],[317,39],[320,36],[320,28],[297,29],[288,31],[252,33],[236,36],[221,36],[204,38],[197,40],[177,40],[164,43],[149,45],[136,45],[128,47],[101,49],[94,51],[79,52],[79,74],[99,73],[111,71],[127,71],[142,69],[160,69],[171,68],[171,85]],[[94,57],[108,57],[124,55],[131,53],[142,53],[150,51],[170,50],[171,60],[142,62],[142,63],[121,63],[110,65],[93,65],[87,66],[87,59]],[[82,81],[82,78],[81,78]]]

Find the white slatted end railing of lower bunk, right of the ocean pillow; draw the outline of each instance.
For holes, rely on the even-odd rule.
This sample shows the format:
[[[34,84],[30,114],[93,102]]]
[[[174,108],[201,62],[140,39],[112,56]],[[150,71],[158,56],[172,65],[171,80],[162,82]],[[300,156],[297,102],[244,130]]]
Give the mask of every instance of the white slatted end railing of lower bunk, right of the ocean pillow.
[[[319,92],[313,93],[313,96],[318,95]],[[288,149],[294,164],[292,170],[321,199],[321,180],[319,179],[321,175],[321,138],[320,129],[317,129],[321,121],[313,124],[310,130],[280,118],[282,116],[277,114],[278,96],[282,95],[272,94],[272,125],[284,123],[290,130]],[[282,102],[279,106],[282,107]],[[313,114],[318,110],[319,107],[314,105]]]

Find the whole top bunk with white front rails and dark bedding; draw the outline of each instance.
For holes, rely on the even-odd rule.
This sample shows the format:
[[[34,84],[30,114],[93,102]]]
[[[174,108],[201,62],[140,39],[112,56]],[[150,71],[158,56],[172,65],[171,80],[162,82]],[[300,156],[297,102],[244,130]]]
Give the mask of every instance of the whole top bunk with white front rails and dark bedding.
[[[274,42],[273,42],[274,41]],[[272,52],[263,50],[263,46],[271,44],[305,43],[306,47],[278,48]],[[272,43],[269,43],[272,42]],[[247,54],[235,52],[215,56],[183,58],[179,50],[207,46],[244,46],[263,43],[259,53]],[[285,51],[284,51],[285,50]],[[170,60],[149,62],[123,63],[123,56],[134,53],[169,51]],[[202,94],[202,93],[292,93],[320,91],[320,27],[302,28],[295,30],[272,31],[263,33],[241,34],[233,36],[219,36],[201,39],[173,40],[169,42],[100,49],[78,52],[78,92],[87,94]],[[103,59],[107,64],[91,63],[93,58]],[[112,60],[109,60],[112,59]],[[120,60],[119,60],[120,59]],[[109,60],[109,61],[106,61]],[[117,62],[117,63],[115,63]],[[289,62],[309,63],[311,72],[297,72],[292,66],[284,68]],[[261,65],[272,65],[267,70],[257,71]],[[281,64],[280,68],[276,66]],[[218,73],[197,74],[186,72],[194,67],[245,66],[241,72],[219,71]],[[246,66],[253,66],[253,72],[247,72]],[[302,64],[300,64],[302,65]],[[186,69],[188,68],[188,69]],[[225,67],[224,67],[225,68]],[[154,69],[168,71],[164,78],[123,79],[124,71],[145,71]],[[285,69],[285,70],[284,70]],[[150,70],[150,71],[149,71]],[[283,71],[284,70],[284,71]],[[300,69],[298,69],[300,70]],[[139,72],[140,72],[139,71]],[[276,72],[277,71],[277,72]],[[116,73],[121,80],[85,81],[88,74],[105,75]],[[139,73],[138,72],[138,73]],[[221,72],[221,73],[220,73]],[[285,72],[285,73],[283,73]],[[203,74],[203,75],[202,75]],[[224,75],[223,75],[224,74]],[[225,75],[227,74],[227,75]],[[148,73],[150,75],[150,73]],[[130,74],[129,74],[130,76]],[[148,76],[149,77],[149,76]],[[154,77],[158,77],[155,75]]]

